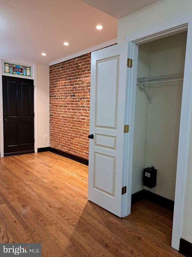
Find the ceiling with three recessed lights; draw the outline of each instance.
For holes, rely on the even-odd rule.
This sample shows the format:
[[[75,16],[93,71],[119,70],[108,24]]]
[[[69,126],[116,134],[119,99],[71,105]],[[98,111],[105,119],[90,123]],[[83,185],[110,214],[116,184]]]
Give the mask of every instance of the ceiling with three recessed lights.
[[[116,39],[118,18],[157,1],[0,0],[0,54],[54,62]]]

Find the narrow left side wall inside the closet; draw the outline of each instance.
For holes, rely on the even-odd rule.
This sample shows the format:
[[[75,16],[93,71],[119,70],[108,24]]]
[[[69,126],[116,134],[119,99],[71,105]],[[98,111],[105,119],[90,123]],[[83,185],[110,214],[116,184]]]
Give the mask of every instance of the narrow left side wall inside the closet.
[[[139,47],[137,77],[149,76],[151,65],[151,49],[148,44]],[[143,189],[142,171],[145,167],[146,158],[146,130],[147,113],[149,102],[143,89],[136,88],[135,125],[134,125],[134,148],[133,148],[133,172],[132,194]]]

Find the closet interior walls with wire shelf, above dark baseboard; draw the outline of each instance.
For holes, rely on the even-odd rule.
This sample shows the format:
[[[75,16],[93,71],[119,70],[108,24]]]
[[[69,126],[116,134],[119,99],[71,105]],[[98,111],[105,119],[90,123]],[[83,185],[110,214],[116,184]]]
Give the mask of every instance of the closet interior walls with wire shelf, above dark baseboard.
[[[146,189],[175,198],[187,32],[139,45],[132,194]],[[156,187],[143,186],[143,169],[157,169]]]

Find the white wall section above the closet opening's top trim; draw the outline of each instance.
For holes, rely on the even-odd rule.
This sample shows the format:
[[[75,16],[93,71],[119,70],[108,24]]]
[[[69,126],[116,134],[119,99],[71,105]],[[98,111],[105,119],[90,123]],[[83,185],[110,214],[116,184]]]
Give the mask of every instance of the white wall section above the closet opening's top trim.
[[[191,0],[160,0],[118,20],[117,43],[127,35],[192,13]]]

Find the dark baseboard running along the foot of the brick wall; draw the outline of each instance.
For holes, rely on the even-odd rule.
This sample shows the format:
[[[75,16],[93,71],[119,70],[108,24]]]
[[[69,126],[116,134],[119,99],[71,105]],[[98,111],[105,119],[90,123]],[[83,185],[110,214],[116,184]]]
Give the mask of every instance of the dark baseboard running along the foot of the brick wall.
[[[81,158],[81,157],[79,157],[79,156],[75,156],[75,155],[70,154],[70,153],[65,153],[65,152],[63,152],[63,151],[61,151],[61,150],[57,150],[57,149],[52,148],[52,147],[42,147],[42,148],[38,148],[38,153],[47,152],[47,151],[49,151],[49,152],[51,152],[51,153],[56,153],[56,154],[58,154],[58,155],[64,156],[64,157],[66,157],[66,158],[69,158],[69,159],[74,160],[74,161],[76,161],[76,162],[78,162],[78,163],[82,163],[82,164],[85,164],[85,165],[88,166],[88,160],[83,159],[83,158]]]

